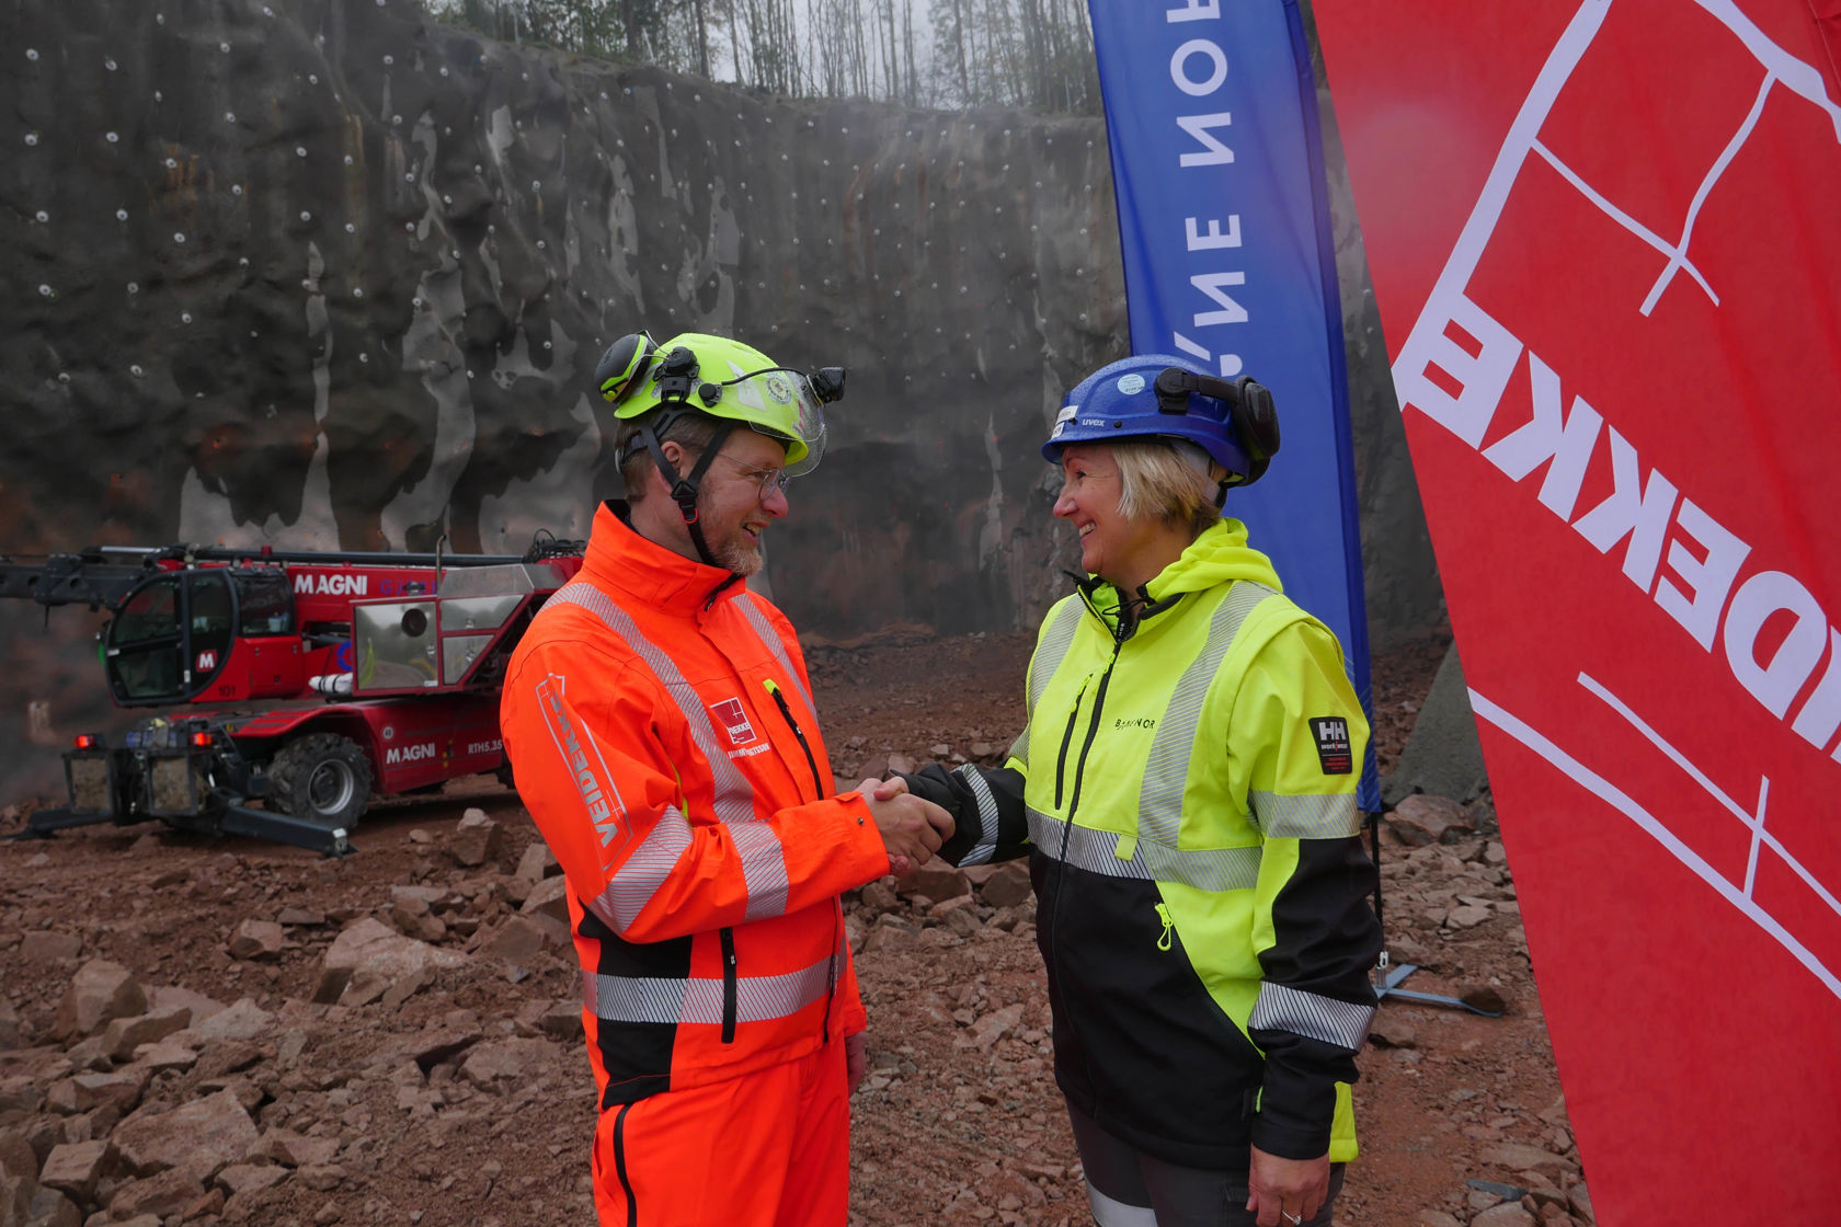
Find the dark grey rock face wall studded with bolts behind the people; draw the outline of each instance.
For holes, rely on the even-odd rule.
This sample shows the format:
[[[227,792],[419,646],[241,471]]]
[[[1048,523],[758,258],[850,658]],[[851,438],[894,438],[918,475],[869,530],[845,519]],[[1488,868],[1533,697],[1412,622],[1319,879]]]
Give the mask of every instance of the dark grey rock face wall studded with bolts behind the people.
[[[619,491],[595,361],[698,329],[851,368],[770,533],[805,631],[1009,629],[1064,591],[1036,445],[1127,351],[1097,120],[762,97],[407,0],[9,0],[0,48],[0,550],[582,537]],[[1346,296],[1384,642],[1436,576]],[[0,616],[42,662],[37,611]],[[83,703],[0,721],[28,697]]]

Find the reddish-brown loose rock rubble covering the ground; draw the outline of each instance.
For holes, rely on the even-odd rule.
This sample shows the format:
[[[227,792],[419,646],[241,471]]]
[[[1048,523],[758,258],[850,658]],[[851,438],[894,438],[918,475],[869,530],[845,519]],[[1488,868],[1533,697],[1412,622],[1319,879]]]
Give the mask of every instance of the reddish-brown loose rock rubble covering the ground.
[[[814,653],[847,786],[1002,762],[1027,638],[849,657]],[[562,877],[514,795],[451,791],[379,808],[344,861],[155,828],[0,844],[0,1227],[593,1221]],[[1338,1221],[1591,1223],[1502,846],[1486,820],[1403,844],[1410,817],[1383,848],[1403,988],[1506,1014],[1381,1006]],[[1024,865],[871,883],[845,920],[852,1223],[1084,1227]]]

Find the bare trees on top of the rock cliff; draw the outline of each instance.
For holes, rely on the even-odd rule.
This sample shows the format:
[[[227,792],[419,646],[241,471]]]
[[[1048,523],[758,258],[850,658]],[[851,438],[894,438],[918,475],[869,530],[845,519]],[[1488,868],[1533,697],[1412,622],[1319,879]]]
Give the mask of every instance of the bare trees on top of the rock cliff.
[[[506,42],[696,72],[770,94],[1099,114],[1086,0],[420,4]]]

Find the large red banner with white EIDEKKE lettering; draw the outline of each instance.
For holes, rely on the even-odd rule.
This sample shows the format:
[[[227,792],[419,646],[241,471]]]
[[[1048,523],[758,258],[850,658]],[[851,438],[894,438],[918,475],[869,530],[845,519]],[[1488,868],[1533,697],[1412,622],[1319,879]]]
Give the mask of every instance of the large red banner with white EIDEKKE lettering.
[[[1314,7],[1598,1220],[1841,1221],[1837,6]]]

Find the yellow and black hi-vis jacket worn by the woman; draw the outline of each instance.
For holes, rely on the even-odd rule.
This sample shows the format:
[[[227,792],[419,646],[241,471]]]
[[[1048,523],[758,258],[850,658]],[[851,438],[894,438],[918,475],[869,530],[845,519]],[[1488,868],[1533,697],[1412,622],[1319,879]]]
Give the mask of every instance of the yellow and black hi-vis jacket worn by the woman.
[[[1353,1159],[1381,933],[1342,651],[1239,521],[1147,594],[1123,618],[1099,579],[1057,603],[1009,765],[909,787],[954,811],[959,863],[1027,844],[1075,1107],[1184,1166]]]

